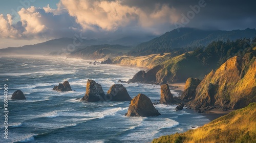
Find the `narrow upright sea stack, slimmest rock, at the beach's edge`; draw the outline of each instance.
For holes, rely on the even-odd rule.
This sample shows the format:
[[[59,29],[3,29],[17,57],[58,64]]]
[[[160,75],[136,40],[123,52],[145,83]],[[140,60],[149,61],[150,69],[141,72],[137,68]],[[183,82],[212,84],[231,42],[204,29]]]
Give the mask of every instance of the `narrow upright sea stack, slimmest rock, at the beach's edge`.
[[[161,85],[161,97],[160,97],[160,103],[161,104],[169,104],[175,102],[173,94],[170,93],[169,85],[164,84]]]

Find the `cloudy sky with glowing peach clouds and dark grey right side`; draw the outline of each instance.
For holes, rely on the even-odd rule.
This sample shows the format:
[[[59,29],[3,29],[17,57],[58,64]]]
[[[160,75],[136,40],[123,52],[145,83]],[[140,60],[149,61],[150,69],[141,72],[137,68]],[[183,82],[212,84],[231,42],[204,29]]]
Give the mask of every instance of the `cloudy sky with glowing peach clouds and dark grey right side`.
[[[231,0],[3,0],[0,49],[74,35],[118,39],[181,27],[256,28],[255,6],[255,1]]]

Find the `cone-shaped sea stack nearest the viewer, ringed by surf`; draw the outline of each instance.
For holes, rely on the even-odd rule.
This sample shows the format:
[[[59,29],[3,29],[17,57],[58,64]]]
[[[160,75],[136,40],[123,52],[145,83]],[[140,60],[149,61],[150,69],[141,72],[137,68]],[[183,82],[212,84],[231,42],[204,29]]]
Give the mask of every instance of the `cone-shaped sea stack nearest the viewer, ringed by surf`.
[[[132,101],[129,106],[126,116],[158,116],[161,115],[158,110],[154,107],[150,98],[144,94],[139,93]]]

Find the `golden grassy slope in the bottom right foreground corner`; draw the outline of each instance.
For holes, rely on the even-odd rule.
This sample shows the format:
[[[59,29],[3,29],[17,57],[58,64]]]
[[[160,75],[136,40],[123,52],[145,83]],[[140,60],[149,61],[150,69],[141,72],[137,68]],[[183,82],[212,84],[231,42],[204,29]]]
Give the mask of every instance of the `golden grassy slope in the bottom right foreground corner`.
[[[152,142],[256,142],[256,103],[184,133],[161,136]]]

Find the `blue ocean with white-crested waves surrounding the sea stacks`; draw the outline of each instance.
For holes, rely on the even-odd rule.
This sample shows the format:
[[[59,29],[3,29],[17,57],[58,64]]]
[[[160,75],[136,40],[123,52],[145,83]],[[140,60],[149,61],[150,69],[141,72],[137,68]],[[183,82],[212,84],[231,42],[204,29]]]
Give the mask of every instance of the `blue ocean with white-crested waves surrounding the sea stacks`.
[[[106,93],[118,80],[129,80],[143,68],[89,64],[82,59],[0,57],[0,142],[150,142],[161,135],[184,132],[209,120],[191,110],[158,104],[155,117],[126,117],[130,102],[82,102],[88,79]],[[68,80],[73,91],[53,87]],[[8,139],[4,138],[4,84],[8,85]],[[131,98],[143,93],[160,100],[160,86],[122,83]],[[10,100],[20,89],[27,100]],[[75,90],[75,91],[74,91]],[[178,96],[177,92],[171,91]]]

